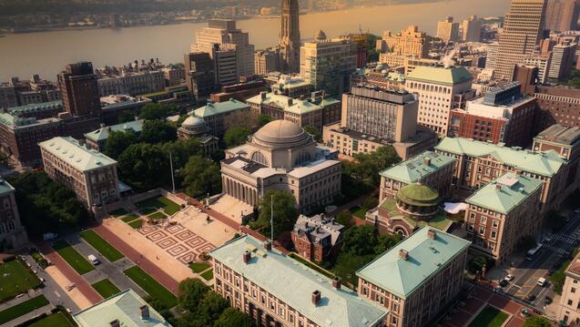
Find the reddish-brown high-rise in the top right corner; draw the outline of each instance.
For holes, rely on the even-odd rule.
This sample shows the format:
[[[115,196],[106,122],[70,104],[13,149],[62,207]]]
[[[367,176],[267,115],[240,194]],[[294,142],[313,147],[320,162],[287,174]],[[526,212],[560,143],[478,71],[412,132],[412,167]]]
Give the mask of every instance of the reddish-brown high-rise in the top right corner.
[[[545,28],[551,31],[570,31],[578,28],[578,0],[548,0],[545,10]]]

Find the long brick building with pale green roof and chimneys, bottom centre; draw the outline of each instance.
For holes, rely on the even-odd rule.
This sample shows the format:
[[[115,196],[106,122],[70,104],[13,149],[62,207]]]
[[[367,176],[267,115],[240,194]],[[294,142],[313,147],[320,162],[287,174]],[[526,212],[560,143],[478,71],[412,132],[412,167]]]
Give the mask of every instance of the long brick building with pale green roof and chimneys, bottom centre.
[[[383,326],[388,310],[361,299],[341,280],[322,276],[252,236],[209,252],[213,290],[267,326]]]

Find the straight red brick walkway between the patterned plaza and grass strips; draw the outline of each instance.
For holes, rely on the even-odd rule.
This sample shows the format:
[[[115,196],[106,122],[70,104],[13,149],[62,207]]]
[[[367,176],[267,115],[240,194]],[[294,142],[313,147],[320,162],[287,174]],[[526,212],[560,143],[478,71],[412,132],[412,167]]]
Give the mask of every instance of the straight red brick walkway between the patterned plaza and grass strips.
[[[155,263],[148,261],[138,250],[133,249],[124,240],[120,239],[111,230],[108,230],[105,226],[97,226],[93,230],[97,232],[103,239],[107,240],[112,246],[120,250],[128,260],[137,263],[137,265],[143,270],[147,271],[151,277],[156,281],[165,286],[169,291],[178,295],[178,285],[179,282],[174,280],[168,275],[163,269],[159,268]]]

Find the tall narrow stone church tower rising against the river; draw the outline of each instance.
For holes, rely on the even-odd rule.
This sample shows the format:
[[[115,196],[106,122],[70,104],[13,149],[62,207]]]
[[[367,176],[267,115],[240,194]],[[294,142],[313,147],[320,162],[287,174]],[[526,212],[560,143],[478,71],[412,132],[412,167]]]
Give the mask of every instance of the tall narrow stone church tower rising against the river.
[[[298,0],[282,0],[280,17],[280,70],[300,71],[300,13]]]

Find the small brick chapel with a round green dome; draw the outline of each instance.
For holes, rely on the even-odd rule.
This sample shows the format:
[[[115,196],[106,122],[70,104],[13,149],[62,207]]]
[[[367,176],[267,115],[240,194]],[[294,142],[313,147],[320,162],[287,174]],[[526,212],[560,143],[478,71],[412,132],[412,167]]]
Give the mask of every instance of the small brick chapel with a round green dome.
[[[420,182],[403,186],[392,198],[384,199],[370,210],[366,221],[380,232],[398,233],[408,237],[425,225],[446,231],[451,227],[446,213],[440,208],[442,198],[431,187]]]

